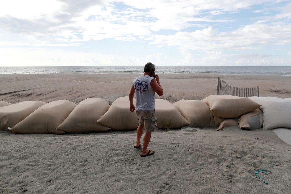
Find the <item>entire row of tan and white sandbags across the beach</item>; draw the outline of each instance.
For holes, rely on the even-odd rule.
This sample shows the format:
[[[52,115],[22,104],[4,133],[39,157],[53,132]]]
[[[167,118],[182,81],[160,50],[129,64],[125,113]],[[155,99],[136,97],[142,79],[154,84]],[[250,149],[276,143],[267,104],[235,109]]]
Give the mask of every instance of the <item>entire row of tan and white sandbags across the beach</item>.
[[[262,104],[263,110],[269,110],[268,107],[271,107],[270,104],[274,99],[280,101],[280,98],[266,98],[269,98],[269,100],[265,100],[267,102],[259,100],[264,97],[242,98],[211,95],[202,101],[180,100],[174,104],[156,99],[157,126],[168,129],[186,125],[193,127],[219,126],[218,129],[221,129],[238,124],[240,128],[257,129],[263,123],[263,112],[258,107]],[[290,106],[286,105],[287,100],[281,100],[284,101],[284,107],[279,106],[277,108],[279,113],[276,115],[279,115],[284,121],[284,117],[280,116],[280,109],[285,108],[288,112]],[[0,130],[7,130],[7,127],[10,127],[10,131],[15,133],[63,134],[65,132],[108,131],[110,128],[113,130],[136,129],[138,119],[135,113],[129,111],[128,107],[128,97],[116,99],[111,106],[101,98],[88,98],[78,105],[67,100],[47,104],[40,101],[20,102],[0,107]],[[271,111],[267,112],[270,112],[268,115],[272,115]],[[269,126],[269,123],[274,123],[272,121],[274,117],[265,118],[270,122],[264,122],[264,129],[276,128],[274,126],[291,128],[288,123]]]

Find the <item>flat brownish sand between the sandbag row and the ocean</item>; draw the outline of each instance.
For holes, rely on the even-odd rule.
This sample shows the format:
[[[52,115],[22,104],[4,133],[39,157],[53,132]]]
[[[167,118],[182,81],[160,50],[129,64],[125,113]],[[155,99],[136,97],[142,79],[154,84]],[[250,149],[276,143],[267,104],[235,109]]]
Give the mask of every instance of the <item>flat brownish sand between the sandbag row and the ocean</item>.
[[[89,97],[100,97],[111,104],[118,97],[128,96],[133,79],[139,75],[0,74],[0,100],[16,103],[67,99],[79,103]],[[259,86],[260,96],[291,96],[290,76],[161,74],[159,77],[164,95],[156,98],[172,103],[180,99],[202,100],[216,94],[218,77],[231,86]]]

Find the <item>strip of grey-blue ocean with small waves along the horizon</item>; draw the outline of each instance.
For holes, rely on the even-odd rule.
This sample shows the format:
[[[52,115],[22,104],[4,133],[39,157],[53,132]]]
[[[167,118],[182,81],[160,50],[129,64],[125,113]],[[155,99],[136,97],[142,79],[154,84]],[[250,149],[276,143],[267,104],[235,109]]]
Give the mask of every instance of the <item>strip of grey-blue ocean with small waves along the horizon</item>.
[[[143,73],[144,66],[0,67],[0,74]],[[286,75],[291,66],[156,66],[156,74]]]

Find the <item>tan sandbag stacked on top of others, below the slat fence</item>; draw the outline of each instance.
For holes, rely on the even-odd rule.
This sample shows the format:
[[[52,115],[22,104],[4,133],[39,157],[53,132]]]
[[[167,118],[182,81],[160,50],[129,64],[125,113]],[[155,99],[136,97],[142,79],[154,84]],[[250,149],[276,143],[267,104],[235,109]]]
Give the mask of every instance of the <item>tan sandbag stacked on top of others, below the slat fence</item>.
[[[208,104],[215,116],[229,119],[237,118],[260,107],[260,104],[249,98],[229,95],[210,95],[202,101]]]

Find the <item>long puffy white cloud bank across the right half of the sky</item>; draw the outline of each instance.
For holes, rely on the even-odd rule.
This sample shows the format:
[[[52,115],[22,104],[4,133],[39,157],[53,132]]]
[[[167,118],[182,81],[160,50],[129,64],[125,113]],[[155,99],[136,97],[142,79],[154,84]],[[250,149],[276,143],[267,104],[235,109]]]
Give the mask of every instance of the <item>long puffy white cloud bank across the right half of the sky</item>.
[[[251,24],[231,32],[220,32],[209,26],[194,32],[177,32],[175,35],[156,35],[152,44],[178,46],[180,50],[250,50],[264,45],[291,43],[291,24]]]

